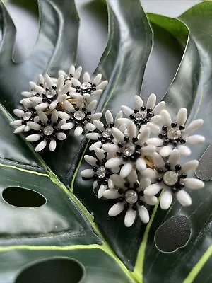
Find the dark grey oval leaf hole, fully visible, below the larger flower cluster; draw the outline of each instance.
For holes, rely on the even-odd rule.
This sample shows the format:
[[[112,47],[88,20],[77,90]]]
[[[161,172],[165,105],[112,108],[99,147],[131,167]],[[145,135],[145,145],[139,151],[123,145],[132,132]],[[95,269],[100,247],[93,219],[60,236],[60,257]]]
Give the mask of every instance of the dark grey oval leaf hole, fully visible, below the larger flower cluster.
[[[175,252],[187,245],[191,232],[191,223],[187,216],[173,216],[155,232],[155,246],[163,253]]]

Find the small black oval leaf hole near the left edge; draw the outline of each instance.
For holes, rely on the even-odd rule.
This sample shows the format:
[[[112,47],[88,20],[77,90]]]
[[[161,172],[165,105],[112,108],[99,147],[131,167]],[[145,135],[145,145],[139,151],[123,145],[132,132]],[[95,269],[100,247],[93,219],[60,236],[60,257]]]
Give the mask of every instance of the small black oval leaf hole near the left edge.
[[[41,207],[47,200],[39,192],[23,187],[6,187],[3,199],[15,207]]]

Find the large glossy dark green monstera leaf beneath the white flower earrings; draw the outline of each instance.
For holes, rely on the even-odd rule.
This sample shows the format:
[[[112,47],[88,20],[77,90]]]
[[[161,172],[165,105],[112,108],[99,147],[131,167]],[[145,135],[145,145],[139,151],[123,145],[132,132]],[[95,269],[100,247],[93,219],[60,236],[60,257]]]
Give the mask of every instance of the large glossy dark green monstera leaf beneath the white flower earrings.
[[[104,2],[95,5],[106,8]],[[206,143],[192,151],[192,158],[204,161],[196,172],[206,180],[204,190],[191,193],[193,204],[186,209],[174,203],[164,212],[156,205],[147,226],[136,221],[131,229],[124,227],[123,216],[109,219],[111,204],[98,200],[92,184],[82,180],[79,173],[88,150],[83,137],[70,133],[55,153],[38,155],[9,126],[28,81],[39,73],[55,76],[58,69],[67,70],[75,62],[79,22],[74,1],[40,0],[38,8],[37,42],[30,57],[16,64],[16,28],[1,2],[0,282],[211,282],[207,162],[211,158],[212,3],[198,4],[175,19],[146,16],[139,0],[107,0],[109,36],[96,72],[109,84],[98,110],[115,114],[120,105],[131,105],[141,91],[153,38],[160,35],[166,41],[169,34],[183,55],[163,99],[171,112],[184,106],[189,120],[205,120],[201,134]],[[165,231],[170,227],[172,238]],[[174,236],[175,248],[161,248]]]

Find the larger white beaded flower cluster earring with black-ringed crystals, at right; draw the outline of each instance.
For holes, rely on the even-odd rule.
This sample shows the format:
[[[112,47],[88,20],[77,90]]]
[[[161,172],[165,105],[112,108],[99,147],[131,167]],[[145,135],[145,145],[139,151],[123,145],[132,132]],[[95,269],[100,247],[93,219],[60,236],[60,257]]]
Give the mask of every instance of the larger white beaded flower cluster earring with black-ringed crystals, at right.
[[[83,178],[93,178],[98,198],[117,200],[109,216],[125,211],[126,227],[134,224],[136,214],[148,223],[148,207],[158,202],[160,191],[161,209],[168,209],[173,197],[184,207],[191,205],[192,199],[185,189],[200,189],[204,183],[188,176],[198,161],[181,163],[179,158],[191,154],[190,144],[204,142],[203,136],[191,135],[203,120],[187,125],[186,108],[179,109],[172,120],[164,101],[156,105],[155,94],[149,96],[146,105],[140,96],[134,96],[134,109],[121,109],[115,119],[107,110],[105,124],[93,120],[96,129],[86,137],[95,141],[89,148],[95,157],[86,155],[92,168],[81,171]]]

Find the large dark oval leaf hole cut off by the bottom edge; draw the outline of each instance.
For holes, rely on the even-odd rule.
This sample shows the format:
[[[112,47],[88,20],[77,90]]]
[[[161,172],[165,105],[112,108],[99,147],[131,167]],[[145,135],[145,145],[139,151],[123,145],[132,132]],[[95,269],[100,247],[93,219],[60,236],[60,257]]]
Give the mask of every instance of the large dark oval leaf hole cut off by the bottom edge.
[[[49,258],[22,270],[15,283],[79,283],[85,269],[73,258]]]

